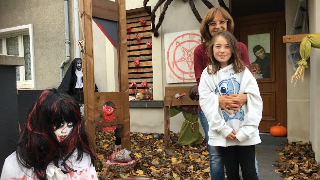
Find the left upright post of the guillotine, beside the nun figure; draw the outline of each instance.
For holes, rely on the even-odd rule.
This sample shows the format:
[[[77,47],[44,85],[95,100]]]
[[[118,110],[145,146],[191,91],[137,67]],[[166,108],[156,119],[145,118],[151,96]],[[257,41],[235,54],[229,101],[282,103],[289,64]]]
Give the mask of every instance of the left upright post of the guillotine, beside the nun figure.
[[[83,95],[85,108],[85,127],[96,147],[95,125],[94,125],[94,66],[93,66],[93,36],[92,36],[92,6],[91,0],[82,0],[80,3],[81,23],[84,29],[86,47],[85,56],[82,60],[83,66]]]

